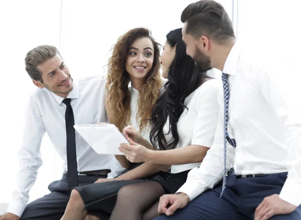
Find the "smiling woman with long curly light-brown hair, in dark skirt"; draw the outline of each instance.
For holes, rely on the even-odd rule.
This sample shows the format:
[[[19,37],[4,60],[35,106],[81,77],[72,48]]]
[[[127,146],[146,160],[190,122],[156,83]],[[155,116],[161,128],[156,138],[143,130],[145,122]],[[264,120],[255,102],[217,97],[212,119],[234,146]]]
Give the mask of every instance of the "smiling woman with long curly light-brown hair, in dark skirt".
[[[159,44],[148,29],[132,29],[119,37],[108,62],[105,108],[110,123],[120,131],[131,125],[149,140],[150,114],[163,86],[159,69]],[[116,155],[116,158],[123,167],[131,167],[125,156]],[[114,180],[131,184],[169,176],[152,163],[133,165],[135,168],[114,179],[100,178],[96,184],[72,190],[62,219],[106,219],[114,208],[117,193],[106,200],[97,202],[97,199],[104,188],[111,189],[120,183]]]

